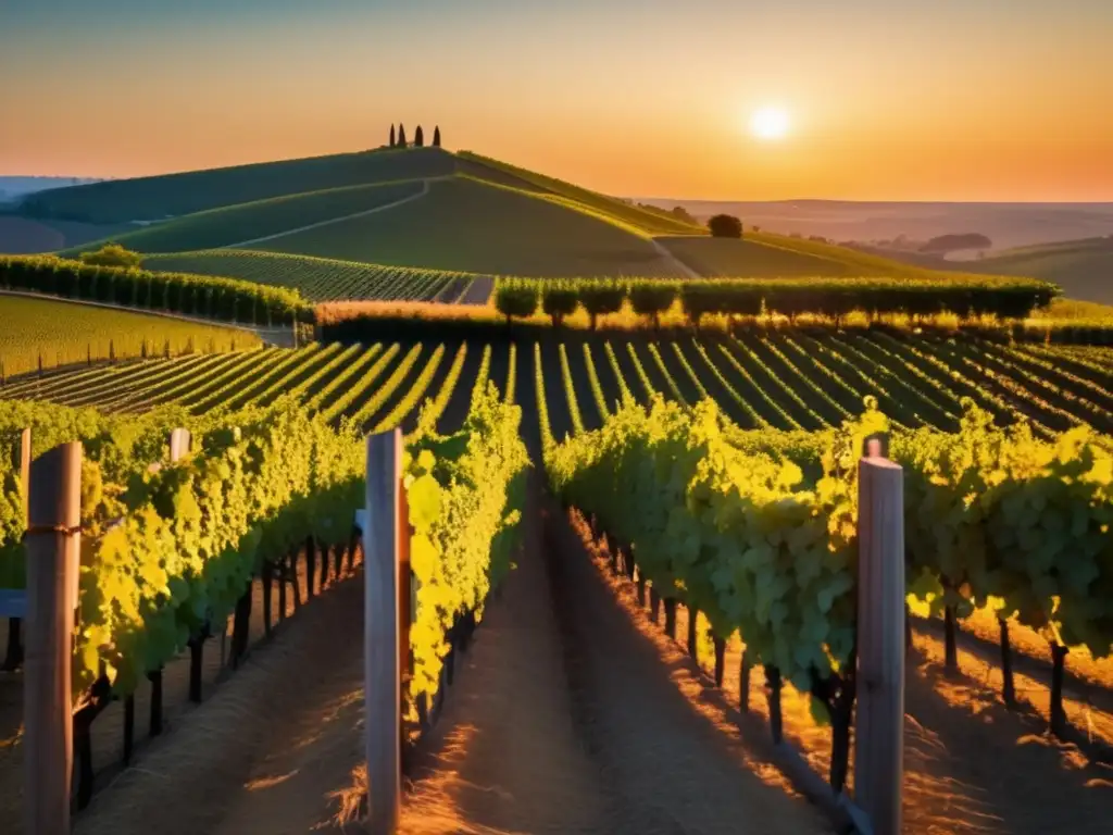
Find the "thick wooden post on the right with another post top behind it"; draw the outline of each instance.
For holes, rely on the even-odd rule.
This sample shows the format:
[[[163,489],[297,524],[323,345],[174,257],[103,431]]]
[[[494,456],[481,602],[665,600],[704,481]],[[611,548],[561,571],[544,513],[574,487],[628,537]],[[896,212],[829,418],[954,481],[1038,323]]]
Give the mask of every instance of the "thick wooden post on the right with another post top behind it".
[[[876,835],[899,835],[904,784],[904,472],[869,441],[858,462],[858,709],[855,799]]]

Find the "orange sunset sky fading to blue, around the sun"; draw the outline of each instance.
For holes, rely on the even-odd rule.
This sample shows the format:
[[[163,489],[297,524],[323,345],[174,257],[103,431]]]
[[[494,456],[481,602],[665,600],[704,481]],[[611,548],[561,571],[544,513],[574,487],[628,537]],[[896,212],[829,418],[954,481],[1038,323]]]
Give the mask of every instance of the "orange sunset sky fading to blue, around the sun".
[[[611,194],[1113,200],[1105,0],[27,6],[0,12],[3,175],[347,151],[402,120]],[[786,140],[749,136],[765,105]]]

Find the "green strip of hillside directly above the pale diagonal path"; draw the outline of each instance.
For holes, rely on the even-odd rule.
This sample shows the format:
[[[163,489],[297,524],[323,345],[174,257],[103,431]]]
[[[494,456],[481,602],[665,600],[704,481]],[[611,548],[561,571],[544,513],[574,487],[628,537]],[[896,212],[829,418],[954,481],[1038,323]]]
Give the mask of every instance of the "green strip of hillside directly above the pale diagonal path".
[[[112,240],[138,253],[213,249],[378,208],[421,194],[422,188],[422,180],[413,179],[273,197],[198,212],[118,235]],[[62,255],[72,256],[100,243]]]

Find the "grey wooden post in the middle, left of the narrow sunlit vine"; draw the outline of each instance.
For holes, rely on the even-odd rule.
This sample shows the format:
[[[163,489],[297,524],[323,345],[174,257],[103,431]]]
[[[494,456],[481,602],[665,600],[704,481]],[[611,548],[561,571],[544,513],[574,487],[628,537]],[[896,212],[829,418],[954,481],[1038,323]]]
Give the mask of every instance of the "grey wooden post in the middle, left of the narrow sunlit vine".
[[[367,832],[393,835],[402,794],[402,432],[367,438],[364,551],[364,699]],[[406,654],[408,655],[408,654]]]

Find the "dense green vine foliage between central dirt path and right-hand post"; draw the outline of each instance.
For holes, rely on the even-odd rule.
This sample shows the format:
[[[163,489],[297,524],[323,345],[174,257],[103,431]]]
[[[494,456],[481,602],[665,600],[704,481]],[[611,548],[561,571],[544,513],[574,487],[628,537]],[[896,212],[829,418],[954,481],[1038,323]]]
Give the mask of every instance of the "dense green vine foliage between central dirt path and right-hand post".
[[[758,664],[807,690],[854,641],[854,492],[735,430],[713,401],[627,401],[601,430],[545,453],[556,490],[633,548],[664,598],[738,630]]]

